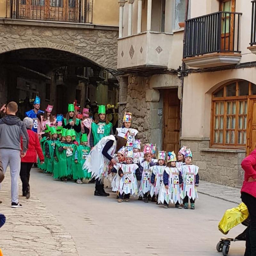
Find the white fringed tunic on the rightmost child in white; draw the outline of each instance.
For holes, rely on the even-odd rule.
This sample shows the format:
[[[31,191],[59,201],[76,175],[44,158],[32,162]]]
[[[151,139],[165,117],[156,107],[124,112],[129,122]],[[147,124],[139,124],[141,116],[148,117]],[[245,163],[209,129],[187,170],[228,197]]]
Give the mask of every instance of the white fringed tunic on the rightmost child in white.
[[[194,164],[184,164],[181,165],[180,170],[183,180],[181,198],[184,199],[187,194],[189,199],[198,199],[195,181],[199,167]]]

